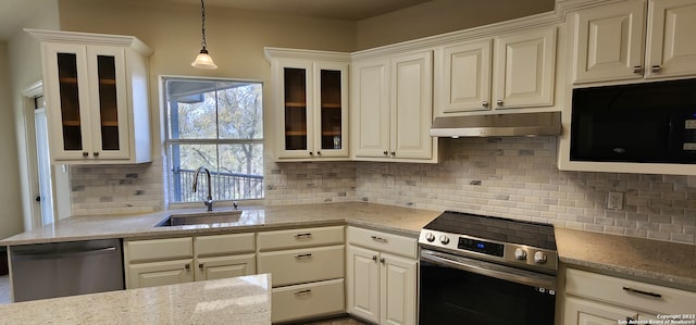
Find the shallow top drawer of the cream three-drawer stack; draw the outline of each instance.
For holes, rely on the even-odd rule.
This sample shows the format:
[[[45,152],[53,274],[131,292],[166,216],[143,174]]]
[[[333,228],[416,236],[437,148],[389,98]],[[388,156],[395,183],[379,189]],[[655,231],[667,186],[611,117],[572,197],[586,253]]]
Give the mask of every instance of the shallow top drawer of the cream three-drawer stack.
[[[344,226],[266,232],[258,236],[260,251],[344,243]]]

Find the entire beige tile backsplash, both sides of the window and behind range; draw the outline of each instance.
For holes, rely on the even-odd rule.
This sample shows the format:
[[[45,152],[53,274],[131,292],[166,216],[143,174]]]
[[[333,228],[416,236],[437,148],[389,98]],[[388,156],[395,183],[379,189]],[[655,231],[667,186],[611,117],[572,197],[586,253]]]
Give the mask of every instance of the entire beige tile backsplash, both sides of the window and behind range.
[[[555,137],[442,141],[439,164],[275,163],[266,157],[265,204],[362,200],[696,243],[696,185],[687,176],[561,172]],[[162,174],[161,163],[73,166],[73,213],[161,210]],[[624,193],[622,210],[607,209],[609,191]]]

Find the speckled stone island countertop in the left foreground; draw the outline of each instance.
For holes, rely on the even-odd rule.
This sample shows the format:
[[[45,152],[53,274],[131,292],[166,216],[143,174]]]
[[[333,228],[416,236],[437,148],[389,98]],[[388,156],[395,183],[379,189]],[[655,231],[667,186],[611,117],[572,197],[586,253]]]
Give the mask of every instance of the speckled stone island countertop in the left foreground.
[[[268,274],[0,304],[0,324],[271,324]]]

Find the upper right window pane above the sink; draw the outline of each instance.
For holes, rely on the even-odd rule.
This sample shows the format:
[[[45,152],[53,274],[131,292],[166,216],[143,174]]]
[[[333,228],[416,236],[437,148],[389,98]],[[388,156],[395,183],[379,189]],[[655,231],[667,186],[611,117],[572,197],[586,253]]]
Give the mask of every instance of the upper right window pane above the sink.
[[[219,83],[217,123],[221,139],[262,139],[261,84]]]

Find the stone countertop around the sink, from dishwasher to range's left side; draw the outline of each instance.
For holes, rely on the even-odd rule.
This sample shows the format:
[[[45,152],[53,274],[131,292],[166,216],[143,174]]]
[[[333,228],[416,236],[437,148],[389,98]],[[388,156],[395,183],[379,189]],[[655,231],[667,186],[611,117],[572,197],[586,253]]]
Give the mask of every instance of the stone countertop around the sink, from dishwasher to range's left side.
[[[216,210],[223,209],[217,208]],[[339,225],[346,224],[346,222],[418,237],[420,229],[440,213],[363,202],[243,207],[241,210],[241,215],[235,222],[170,227],[156,227],[156,225],[170,214],[203,212],[204,208],[136,215],[75,216],[0,240],[0,246],[105,238],[157,238],[248,233],[289,227]]]

